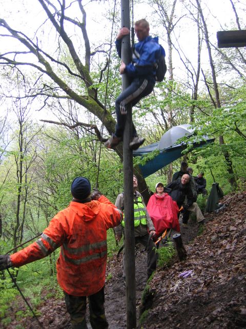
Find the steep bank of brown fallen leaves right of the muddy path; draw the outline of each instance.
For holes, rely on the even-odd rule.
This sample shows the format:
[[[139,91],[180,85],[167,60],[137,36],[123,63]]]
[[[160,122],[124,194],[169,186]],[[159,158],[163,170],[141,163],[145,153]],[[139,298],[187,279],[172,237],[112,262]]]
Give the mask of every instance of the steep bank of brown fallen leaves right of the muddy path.
[[[186,245],[186,261],[158,271],[150,282],[153,307],[139,328],[246,327],[246,193],[206,221]]]

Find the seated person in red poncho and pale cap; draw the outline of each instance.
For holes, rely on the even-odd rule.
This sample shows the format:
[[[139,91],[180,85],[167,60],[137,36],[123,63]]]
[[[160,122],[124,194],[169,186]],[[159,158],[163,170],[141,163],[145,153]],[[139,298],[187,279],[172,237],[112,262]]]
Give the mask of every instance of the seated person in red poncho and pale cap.
[[[161,182],[156,184],[155,191],[156,193],[149,199],[147,210],[154,224],[156,236],[158,237],[163,231],[170,228],[180,232],[177,215],[179,211],[176,202],[168,193],[164,192]]]

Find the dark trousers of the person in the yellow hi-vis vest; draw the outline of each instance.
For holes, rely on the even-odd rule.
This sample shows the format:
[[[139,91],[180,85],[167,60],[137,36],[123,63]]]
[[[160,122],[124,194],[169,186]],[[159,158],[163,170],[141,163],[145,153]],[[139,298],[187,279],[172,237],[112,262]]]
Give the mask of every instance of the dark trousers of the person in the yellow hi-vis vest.
[[[148,245],[149,241],[149,245]],[[135,236],[135,245],[140,243],[147,248],[147,276],[148,278],[152,275],[152,272],[156,269],[156,245],[152,239],[149,240],[149,234],[144,236]],[[123,278],[126,278],[126,265],[125,265],[125,248],[123,252]]]

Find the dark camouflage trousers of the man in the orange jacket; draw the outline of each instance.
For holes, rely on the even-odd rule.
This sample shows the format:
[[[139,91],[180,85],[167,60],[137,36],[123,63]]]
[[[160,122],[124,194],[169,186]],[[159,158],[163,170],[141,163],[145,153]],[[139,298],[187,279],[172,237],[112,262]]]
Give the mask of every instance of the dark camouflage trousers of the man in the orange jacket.
[[[65,303],[73,329],[88,329],[86,324],[86,296],[72,296],[65,293]],[[105,316],[104,287],[98,293],[88,296],[90,323],[93,329],[107,329],[109,324]]]

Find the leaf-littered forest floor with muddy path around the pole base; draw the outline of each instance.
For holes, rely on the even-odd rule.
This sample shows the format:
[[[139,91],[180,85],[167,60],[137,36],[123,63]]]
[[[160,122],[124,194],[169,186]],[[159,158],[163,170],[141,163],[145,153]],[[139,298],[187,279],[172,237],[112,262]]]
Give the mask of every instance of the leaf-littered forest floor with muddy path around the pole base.
[[[246,328],[246,192],[227,195],[226,207],[206,214],[204,224],[190,221],[181,228],[185,261],[174,257],[157,268],[148,283],[152,307],[139,324],[141,296],[146,287],[146,252],[136,250],[137,328]],[[198,235],[198,232],[201,234]],[[110,329],[126,328],[126,293],[122,283],[122,253],[108,262],[105,308]],[[181,273],[189,271],[184,278]],[[26,308],[21,298],[10,306],[12,322],[4,329],[38,329],[33,318],[11,316]],[[69,329],[63,300],[48,298],[38,307],[43,328]],[[89,323],[89,321],[88,321]],[[88,328],[90,324],[88,324]]]

